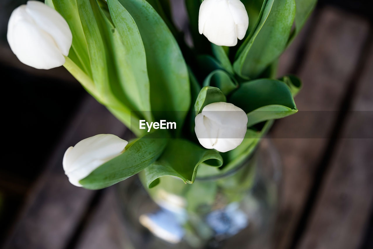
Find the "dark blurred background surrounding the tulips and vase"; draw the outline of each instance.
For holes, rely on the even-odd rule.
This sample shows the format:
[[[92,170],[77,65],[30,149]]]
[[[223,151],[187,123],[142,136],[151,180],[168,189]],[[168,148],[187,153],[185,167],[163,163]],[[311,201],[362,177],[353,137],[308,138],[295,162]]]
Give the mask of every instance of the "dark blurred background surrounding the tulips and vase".
[[[7,21],[25,2],[0,3],[0,246],[129,248],[113,188],[76,188],[62,169],[69,146],[126,129],[63,67],[18,61]],[[279,76],[297,74],[304,87],[300,112],[269,134],[283,165],[273,248],[373,248],[372,9],[371,0],[319,0],[280,58]]]

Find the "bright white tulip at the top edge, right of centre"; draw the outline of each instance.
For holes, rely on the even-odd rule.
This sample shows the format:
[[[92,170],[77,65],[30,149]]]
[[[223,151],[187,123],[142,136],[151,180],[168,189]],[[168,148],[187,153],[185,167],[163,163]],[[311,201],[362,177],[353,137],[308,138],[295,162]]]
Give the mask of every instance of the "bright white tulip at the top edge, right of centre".
[[[236,46],[249,27],[245,6],[239,0],[204,0],[200,6],[198,30],[219,46]]]

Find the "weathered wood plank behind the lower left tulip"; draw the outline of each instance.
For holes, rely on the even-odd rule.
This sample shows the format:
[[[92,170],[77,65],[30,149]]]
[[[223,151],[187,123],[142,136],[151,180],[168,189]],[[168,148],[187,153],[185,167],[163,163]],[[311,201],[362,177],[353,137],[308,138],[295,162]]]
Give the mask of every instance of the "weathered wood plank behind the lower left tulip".
[[[30,191],[5,248],[65,248],[94,194],[94,191],[69,183],[62,169],[66,148],[99,133],[121,136],[124,131],[123,124],[87,96],[51,155],[45,172]],[[43,148],[40,148],[40,153],[43,153]],[[37,155],[32,160],[37,160]]]

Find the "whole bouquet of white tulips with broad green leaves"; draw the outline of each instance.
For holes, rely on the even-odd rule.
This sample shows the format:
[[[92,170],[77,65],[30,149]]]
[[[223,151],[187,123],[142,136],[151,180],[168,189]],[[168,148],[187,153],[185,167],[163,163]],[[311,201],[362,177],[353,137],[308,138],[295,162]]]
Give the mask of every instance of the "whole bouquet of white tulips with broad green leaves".
[[[276,78],[276,64],[316,0],[185,0],[192,43],[170,1],[28,1],[13,11],[7,39],[19,60],[63,65],[137,137],[68,148],[72,184],[99,189],[140,172],[149,188],[163,176],[192,184],[198,169],[240,165],[274,119],[297,112],[301,82]]]

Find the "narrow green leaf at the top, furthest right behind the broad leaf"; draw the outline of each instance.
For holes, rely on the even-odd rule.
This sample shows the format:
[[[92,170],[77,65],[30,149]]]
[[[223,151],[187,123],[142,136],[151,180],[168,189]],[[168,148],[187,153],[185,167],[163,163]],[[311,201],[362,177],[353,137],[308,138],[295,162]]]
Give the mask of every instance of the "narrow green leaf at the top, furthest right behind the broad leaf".
[[[297,36],[303,28],[308,17],[315,8],[317,0],[295,0],[295,30],[292,32],[288,44]]]

